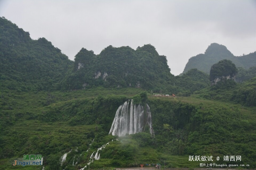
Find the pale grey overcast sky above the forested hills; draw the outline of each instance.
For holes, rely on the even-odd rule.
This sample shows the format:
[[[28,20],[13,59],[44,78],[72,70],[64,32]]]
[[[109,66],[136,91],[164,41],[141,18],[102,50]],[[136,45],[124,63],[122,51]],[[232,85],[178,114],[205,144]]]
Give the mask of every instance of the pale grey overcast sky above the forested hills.
[[[236,56],[256,51],[255,0],[0,0],[0,16],[71,60],[82,47],[151,44],[174,75],[214,42]]]

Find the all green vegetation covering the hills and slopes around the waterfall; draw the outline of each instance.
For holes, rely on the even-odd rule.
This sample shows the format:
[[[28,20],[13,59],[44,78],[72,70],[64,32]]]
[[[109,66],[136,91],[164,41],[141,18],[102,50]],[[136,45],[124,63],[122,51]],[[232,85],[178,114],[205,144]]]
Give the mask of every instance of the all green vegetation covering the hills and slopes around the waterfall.
[[[173,76],[152,45],[108,46],[99,55],[83,48],[72,62],[45,38],[32,40],[5,18],[0,25],[0,169],[42,169],[12,166],[16,157],[42,154],[45,170],[77,170],[108,142],[91,169],[198,168],[202,162],[188,161],[189,155],[213,156],[204,163],[219,164],[234,162],[216,162],[217,156],[241,155],[241,164],[256,168],[255,67],[237,73],[232,63],[247,58],[255,66],[255,53],[235,62],[225,46],[209,46],[199,55],[202,67],[208,69],[207,56],[212,64],[225,59],[212,66],[211,79],[237,73],[242,82],[210,86],[201,68]],[[195,58],[189,62],[198,63]],[[117,108],[130,99],[150,106],[155,136],[148,127],[119,138],[108,134]]]

